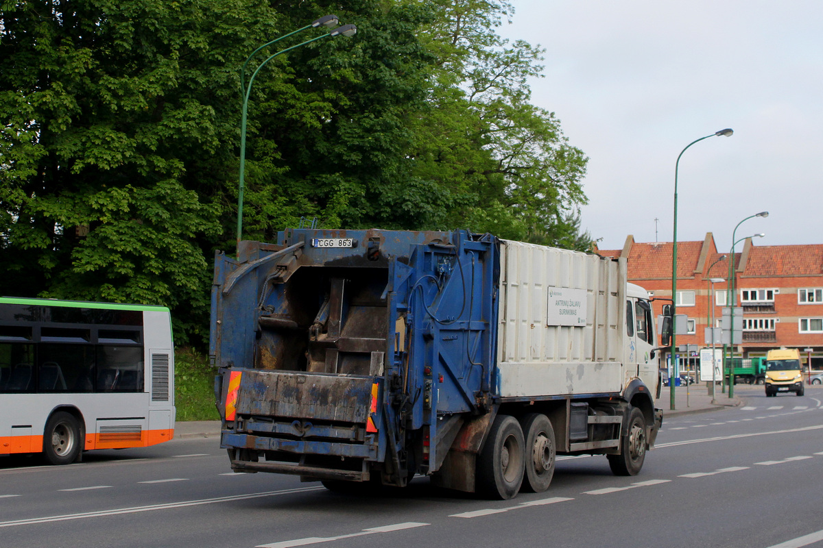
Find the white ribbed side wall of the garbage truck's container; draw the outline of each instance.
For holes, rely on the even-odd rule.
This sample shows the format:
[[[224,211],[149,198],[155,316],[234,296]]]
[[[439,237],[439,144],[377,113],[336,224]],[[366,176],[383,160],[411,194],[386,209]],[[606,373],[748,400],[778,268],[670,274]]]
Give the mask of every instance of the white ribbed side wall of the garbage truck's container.
[[[500,395],[620,392],[625,260],[502,240],[500,269]],[[566,292],[575,300],[585,295],[569,312],[584,325],[548,325],[549,299],[565,288],[577,290]],[[563,304],[551,306],[556,317]]]

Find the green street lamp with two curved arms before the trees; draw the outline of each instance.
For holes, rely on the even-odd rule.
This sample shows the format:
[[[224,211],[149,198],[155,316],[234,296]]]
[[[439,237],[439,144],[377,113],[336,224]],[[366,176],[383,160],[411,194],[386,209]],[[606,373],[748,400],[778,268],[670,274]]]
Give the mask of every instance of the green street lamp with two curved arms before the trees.
[[[313,21],[309,25],[305,25],[303,28],[290,32],[287,35],[282,35],[280,38],[273,39],[266,44],[263,44],[259,48],[255,49],[249,58],[243,63],[243,67],[240,68],[240,87],[243,93],[243,113],[240,117],[240,170],[239,170],[239,188],[237,191],[237,249],[236,253],[239,256],[240,253],[240,236],[243,233],[243,191],[245,187],[245,171],[246,171],[246,122],[248,119],[248,111],[249,111],[249,96],[252,92],[252,84],[254,83],[255,76],[258,75],[260,69],[262,69],[267,62],[271,61],[273,58],[276,58],[278,55],[282,53],[290,52],[292,49],[300,48],[300,46],[305,46],[306,44],[311,44],[312,42],[316,42],[319,39],[327,38],[331,36],[332,38],[335,36],[352,36],[355,35],[357,32],[357,27],[355,25],[342,25],[338,26],[336,29],[332,30],[331,32],[326,33],[325,35],[315,36],[313,39],[306,40],[305,42],[301,42],[300,44],[291,46],[291,48],[281,49],[277,53],[273,53],[270,55],[265,61],[261,62],[256,69],[254,69],[252,76],[249,78],[249,84],[246,85],[245,83],[245,71],[246,67],[249,65],[249,62],[263,48],[279,42],[281,39],[287,38],[292,35],[296,35],[299,32],[302,32],[306,29],[311,29],[318,27],[320,25],[332,27],[337,25],[337,16],[328,15],[320,17],[319,19]]]

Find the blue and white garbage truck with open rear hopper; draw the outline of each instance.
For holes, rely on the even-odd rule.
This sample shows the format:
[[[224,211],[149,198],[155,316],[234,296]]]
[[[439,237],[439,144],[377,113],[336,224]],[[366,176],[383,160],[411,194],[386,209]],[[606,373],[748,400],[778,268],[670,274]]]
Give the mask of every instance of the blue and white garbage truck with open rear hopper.
[[[663,419],[654,323],[623,258],[463,230],[244,241],[215,259],[221,447],[330,490],[510,499],[560,454],[632,476]]]

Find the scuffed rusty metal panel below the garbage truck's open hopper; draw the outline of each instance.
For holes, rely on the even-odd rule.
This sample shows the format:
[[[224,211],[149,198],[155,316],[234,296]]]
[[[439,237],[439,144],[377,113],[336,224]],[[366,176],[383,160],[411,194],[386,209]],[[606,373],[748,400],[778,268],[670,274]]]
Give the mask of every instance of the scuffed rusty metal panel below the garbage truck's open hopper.
[[[237,412],[364,423],[371,385],[367,377],[247,370],[240,383]]]

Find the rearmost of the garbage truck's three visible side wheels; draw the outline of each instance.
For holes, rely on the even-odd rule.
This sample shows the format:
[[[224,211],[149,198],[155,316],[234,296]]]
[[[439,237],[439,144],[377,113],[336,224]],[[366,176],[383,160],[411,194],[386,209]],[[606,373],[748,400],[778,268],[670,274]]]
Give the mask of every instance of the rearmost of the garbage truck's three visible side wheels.
[[[520,423],[498,415],[477,455],[477,492],[493,499],[512,499],[523,483],[526,442]]]

